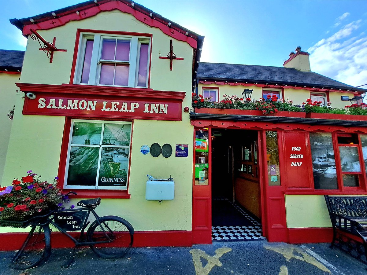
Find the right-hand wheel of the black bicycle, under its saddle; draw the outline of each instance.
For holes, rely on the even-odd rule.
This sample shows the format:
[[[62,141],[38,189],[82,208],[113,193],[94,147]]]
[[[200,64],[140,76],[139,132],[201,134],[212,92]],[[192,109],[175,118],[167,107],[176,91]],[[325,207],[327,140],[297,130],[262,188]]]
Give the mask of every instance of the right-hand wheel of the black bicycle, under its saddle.
[[[134,228],[123,218],[105,216],[94,221],[87,231],[88,242],[101,242],[91,245],[91,249],[101,258],[121,258],[132,246]]]

